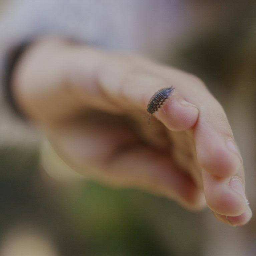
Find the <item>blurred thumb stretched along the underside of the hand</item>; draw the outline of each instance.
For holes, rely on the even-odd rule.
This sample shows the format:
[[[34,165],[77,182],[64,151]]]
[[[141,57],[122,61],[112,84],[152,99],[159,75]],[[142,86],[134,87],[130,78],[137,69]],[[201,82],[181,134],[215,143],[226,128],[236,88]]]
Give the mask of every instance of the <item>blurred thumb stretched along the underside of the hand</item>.
[[[205,206],[202,190],[189,175],[174,167],[169,154],[143,145],[126,126],[90,123],[51,137],[61,158],[87,177],[159,194],[188,209]]]

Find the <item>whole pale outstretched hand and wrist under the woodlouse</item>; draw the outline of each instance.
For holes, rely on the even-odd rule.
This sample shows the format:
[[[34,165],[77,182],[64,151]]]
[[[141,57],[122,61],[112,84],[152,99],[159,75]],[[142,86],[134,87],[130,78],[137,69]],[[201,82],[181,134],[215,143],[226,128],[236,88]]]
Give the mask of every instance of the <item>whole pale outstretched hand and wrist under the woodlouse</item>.
[[[250,220],[231,127],[199,78],[135,54],[47,38],[23,54],[12,85],[20,110],[84,176],[190,210],[208,205],[233,226]],[[174,94],[149,126],[148,101],[170,86]]]

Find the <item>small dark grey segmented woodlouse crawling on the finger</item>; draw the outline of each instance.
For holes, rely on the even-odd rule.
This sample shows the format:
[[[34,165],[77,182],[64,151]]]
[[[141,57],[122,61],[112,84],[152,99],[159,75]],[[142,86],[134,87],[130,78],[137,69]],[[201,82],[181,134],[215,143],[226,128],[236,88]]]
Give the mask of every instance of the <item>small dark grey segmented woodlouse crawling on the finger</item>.
[[[166,100],[173,94],[174,88],[171,87],[165,87],[160,90],[158,90],[150,99],[148,103],[147,111],[153,115],[155,112],[157,112],[160,107],[166,102]],[[149,116],[149,122],[150,122],[150,116]]]

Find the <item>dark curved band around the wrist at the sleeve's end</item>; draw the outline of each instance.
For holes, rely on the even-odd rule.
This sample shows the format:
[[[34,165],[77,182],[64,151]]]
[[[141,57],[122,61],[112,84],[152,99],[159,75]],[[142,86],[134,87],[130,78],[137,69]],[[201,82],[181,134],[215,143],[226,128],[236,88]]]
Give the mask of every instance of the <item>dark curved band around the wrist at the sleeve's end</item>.
[[[13,97],[13,87],[12,87],[12,76],[13,72],[15,70],[16,64],[23,55],[23,53],[26,51],[30,43],[23,43],[18,48],[15,48],[7,55],[7,61],[6,61],[6,68],[5,68],[5,75],[4,75],[4,96],[9,104],[10,108],[14,111],[16,115],[18,115],[22,119],[26,119],[25,115],[22,113],[22,111],[17,106],[15,99]]]

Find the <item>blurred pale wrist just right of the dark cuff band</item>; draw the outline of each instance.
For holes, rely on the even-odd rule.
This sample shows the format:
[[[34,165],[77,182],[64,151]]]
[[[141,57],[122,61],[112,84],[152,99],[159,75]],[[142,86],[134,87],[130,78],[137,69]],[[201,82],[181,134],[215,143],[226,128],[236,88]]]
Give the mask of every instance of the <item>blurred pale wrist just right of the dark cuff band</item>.
[[[47,87],[60,83],[69,43],[63,38],[45,38],[27,45],[10,77],[13,102],[26,117],[37,119],[37,107]]]

